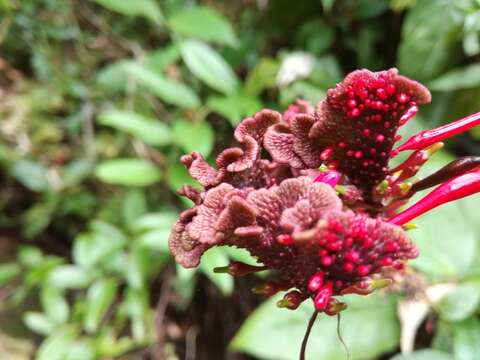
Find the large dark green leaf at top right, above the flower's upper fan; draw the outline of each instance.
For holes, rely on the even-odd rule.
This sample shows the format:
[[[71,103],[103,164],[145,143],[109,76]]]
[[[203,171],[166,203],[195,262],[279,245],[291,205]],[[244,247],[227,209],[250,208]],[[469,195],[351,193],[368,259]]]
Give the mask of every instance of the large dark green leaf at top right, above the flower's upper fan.
[[[463,14],[455,1],[417,1],[402,26],[400,71],[420,81],[438,76],[455,63],[460,51]]]

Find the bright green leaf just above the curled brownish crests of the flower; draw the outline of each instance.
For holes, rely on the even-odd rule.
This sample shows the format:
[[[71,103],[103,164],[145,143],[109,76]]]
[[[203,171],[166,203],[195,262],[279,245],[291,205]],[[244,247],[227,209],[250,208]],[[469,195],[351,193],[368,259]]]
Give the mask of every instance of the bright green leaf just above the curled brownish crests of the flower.
[[[262,108],[262,103],[256,97],[244,94],[228,96],[211,96],[208,98],[207,106],[223,115],[235,126],[244,117],[255,114]]]

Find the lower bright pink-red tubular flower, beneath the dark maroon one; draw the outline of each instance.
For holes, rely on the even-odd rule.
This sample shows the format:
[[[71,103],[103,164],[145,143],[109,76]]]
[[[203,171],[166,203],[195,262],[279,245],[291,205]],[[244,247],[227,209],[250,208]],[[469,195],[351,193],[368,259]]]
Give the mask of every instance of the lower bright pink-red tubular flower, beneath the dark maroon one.
[[[480,192],[480,169],[460,175],[438,186],[430,194],[397,214],[388,222],[403,225],[437,206],[478,192]]]

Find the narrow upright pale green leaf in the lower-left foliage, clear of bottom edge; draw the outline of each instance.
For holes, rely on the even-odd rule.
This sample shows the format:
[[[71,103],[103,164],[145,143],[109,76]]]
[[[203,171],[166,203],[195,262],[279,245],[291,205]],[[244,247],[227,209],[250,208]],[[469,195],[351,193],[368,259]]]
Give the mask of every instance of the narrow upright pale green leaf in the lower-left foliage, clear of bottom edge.
[[[110,305],[115,299],[117,284],[110,279],[93,283],[87,291],[83,327],[88,333],[95,333]]]

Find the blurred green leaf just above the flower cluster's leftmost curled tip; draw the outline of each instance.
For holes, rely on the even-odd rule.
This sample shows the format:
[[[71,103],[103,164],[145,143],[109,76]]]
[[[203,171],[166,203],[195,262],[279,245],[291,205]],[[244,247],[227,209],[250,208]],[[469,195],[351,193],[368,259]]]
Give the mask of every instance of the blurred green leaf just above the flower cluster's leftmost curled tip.
[[[215,140],[212,126],[207,121],[176,119],[172,124],[173,142],[187,153],[198,151],[207,157]]]

